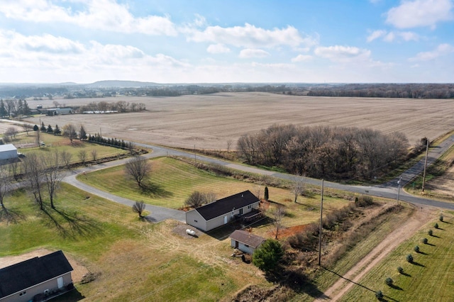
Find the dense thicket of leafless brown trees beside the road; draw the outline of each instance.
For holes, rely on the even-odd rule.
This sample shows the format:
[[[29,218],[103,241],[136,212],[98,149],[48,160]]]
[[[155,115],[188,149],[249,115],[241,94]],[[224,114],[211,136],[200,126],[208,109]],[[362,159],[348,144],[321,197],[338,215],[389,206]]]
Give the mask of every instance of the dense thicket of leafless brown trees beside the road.
[[[408,148],[402,133],[294,125],[271,125],[241,136],[237,144],[238,155],[248,164],[328,179],[380,177],[404,160]]]

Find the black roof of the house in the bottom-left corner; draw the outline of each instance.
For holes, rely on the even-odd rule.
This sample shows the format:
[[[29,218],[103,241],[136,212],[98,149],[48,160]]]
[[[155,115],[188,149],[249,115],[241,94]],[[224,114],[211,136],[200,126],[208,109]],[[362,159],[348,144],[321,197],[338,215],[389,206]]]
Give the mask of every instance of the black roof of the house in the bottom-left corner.
[[[71,264],[61,250],[5,267],[0,269],[0,298],[71,271]]]

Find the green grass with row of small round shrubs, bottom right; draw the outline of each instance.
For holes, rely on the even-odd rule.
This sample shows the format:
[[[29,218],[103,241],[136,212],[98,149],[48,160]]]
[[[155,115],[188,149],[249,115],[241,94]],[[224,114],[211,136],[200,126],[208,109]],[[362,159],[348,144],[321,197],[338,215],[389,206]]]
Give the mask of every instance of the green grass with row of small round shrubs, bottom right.
[[[404,242],[377,267],[373,268],[342,301],[373,301],[375,293],[381,290],[386,301],[454,301],[454,236],[453,213],[446,213],[444,222],[433,219],[419,233]],[[439,229],[433,228],[438,223]],[[433,230],[433,236],[428,235]],[[426,237],[428,244],[423,244]],[[414,247],[418,245],[420,252]],[[414,263],[406,261],[406,255],[414,257]],[[397,267],[404,269],[399,274]],[[391,277],[393,286],[387,286],[385,279]],[[362,286],[372,289],[372,291]]]

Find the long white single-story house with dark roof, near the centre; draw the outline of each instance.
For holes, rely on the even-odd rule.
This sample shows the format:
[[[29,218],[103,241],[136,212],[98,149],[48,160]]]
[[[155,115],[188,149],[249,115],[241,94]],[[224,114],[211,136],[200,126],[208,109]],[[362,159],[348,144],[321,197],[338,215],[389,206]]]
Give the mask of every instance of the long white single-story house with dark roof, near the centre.
[[[244,191],[187,211],[186,223],[207,232],[232,222],[235,216],[253,211],[259,203],[259,198],[250,191]]]

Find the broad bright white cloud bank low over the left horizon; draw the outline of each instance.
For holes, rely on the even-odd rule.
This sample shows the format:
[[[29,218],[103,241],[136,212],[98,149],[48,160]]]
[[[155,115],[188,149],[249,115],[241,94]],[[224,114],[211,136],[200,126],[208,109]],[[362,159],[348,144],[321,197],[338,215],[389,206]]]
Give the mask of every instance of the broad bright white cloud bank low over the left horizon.
[[[150,70],[162,76],[170,69],[177,74],[192,66],[164,54],[147,55],[131,45],[104,45],[96,41],[83,45],[52,35],[26,36],[0,30],[0,43],[4,45],[0,48],[0,74],[16,73],[16,82],[30,81],[28,75],[35,78],[33,82],[40,78],[45,82],[67,82],[74,78],[89,82],[103,77],[111,79],[114,74],[139,80],[145,79]]]

